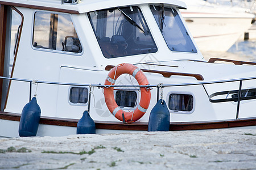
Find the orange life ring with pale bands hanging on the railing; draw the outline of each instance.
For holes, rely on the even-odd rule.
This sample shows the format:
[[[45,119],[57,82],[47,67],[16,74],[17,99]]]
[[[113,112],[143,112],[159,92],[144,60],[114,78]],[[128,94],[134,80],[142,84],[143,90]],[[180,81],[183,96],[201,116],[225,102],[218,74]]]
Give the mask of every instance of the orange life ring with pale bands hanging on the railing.
[[[122,74],[130,74],[133,75],[137,80],[139,85],[147,85],[148,80],[144,73],[138,67],[130,64],[130,63],[122,63],[120,65],[115,66],[112,70],[110,70],[106,80],[105,86],[114,85],[115,80],[117,80],[118,76]],[[125,122],[135,122],[139,120],[147,111],[148,105],[150,104],[150,90],[146,87],[141,87],[141,101],[139,101],[138,107],[133,112],[125,112],[120,109],[115,102],[114,99],[114,87],[105,87],[104,88],[104,97],[106,105],[109,108],[109,111],[120,121],[123,121],[123,114],[125,117]]]

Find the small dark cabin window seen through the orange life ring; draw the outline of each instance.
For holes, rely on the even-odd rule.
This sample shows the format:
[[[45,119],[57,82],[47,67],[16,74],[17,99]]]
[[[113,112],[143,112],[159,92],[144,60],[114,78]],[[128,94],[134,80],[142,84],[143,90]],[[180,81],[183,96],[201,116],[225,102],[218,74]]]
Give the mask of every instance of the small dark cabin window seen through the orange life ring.
[[[121,91],[115,92],[115,102],[119,107],[134,108],[137,101],[137,92]]]

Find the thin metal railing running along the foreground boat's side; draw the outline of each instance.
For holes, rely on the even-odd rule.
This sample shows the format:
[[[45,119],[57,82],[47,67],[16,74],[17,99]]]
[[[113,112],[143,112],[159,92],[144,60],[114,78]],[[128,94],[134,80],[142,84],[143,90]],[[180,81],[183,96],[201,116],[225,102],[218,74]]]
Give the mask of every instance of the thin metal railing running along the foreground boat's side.
[[[19,79],[19,78],[8,78],[4,76],[0,76],[0,79],[7,79],[7,80],[15,80],[19,82],[29,82],[30,83],[30,96],[29,99],[31,100],[31,94],[32,94],[32,83],[40,83],[40,84],[53,84],[53,85],[63,85],[63,86],[84,86],[89,87],[89,91],[92,90],[92,87],[98,87],[98,88],[104,88],[104,84],[83,84],[83,83],[64,83],[64,82],[47,82],[47,81],[40,81],[40,80],[30,80],[30,79]],[[241,101],[241,91],[242,91],[242,82],[245,80],[254,80],[256,79],[256,76],[248,77],[248,78],[239,78],[239,79],[228,79],[228,80],[214,80],[214,81],[200,81],[200,82],[193,82],[193,83],[176,83],[176,84],[148,84],[148,85],[108,85],[108,87],[126,87],[126,88],[157,88],[157,94],[156,94],[156,100],[159,100],[159,90],[162,87],[177,87],[177,86],[196,86],[196,85],[202,85],[204,87],[205,84],[217,84],[217,83],[229,83],[229,82],[240,82],[240,86],[238,89],[238,97],[237,97],[237,113],[236,113],[236,119],[238,119],[239,116],[239,109],[240,109],[240,101]],[[204,87],[204,90],[208,95],[208,92],[206,88]],[[88,111],[90,109],[90,93],[88,97]],[[209,97],[210,100],[210,97]]]

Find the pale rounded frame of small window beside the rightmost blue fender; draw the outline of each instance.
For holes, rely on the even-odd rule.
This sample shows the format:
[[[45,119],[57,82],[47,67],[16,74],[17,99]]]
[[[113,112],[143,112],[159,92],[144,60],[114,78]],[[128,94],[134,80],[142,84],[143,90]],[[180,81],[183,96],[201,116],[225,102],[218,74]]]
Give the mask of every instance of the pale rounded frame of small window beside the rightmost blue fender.
[[[169,99],[170,99],[170,95],[172,94],[177,94],[177,95],[191,95],[193,97],[193,106],[192,106],[192,110],[191,111],[174,111],[171,110],[169,108]],[[167,104],[167,108],[169,110],[170,113],[176,113],[176,114],[192,114],[195,111],[195,107],[196,107],[196,98],[195,95],[192,92],[188,92],[188,91],[170,91],[168,92],[167,96],[166,96],[166,104]]]

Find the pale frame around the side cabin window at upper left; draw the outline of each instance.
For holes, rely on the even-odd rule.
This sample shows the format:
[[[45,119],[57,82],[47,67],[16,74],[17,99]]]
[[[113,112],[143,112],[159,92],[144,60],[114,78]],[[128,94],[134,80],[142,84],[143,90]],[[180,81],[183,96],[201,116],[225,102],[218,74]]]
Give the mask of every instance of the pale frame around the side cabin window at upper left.
[[[80,44],[82,46],[82,52],[81,53],[77,53],[77,52],[67,52],[67,51],[61,51],[61,50],[54,50],[54,49],[47,49],[47,48],[39,48],[39,47],[35,47],[33,45],[33,42],[34,42],[34,29],[35,29],[35,14],[36,12],[45,12],[45,13],[48,13],[48,14],[58,14],[58,15],[69,15],[72,23],[73,23],[73,26],[75,28],[75,31],[76,31],[76,34],[77,34],[77,37],[80,41]],[[72,55],[72,56],[82,56],[82,54],[84,54],[84,45],[81,41],[81,37],[79,36],[79,32],[77,32],[77,29],[76,29],[76,24],[73,22],[73,16],[71,14],[67,14],[67,13],[63,13],[63,12],[55,12],[55,11],[44,11],[44,10],[35,10],[33,12],[33,15],[32,15],[32,31],[31,31],[31,42],[30,42],[30,45],[31,45],[31,48],[34,49],[34,50],[39,50],[39,51],[42,51],[42,52],[51,52],[51,53],[58,53],[58,54],[68,54],[68,55]]]

